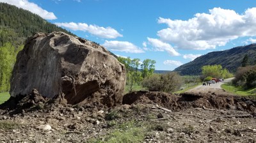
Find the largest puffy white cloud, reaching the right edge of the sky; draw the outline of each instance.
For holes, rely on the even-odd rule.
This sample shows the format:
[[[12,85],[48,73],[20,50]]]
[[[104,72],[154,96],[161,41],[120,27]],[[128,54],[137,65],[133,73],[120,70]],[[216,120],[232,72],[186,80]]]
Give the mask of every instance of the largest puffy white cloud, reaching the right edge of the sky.
[[[180,49],[215,49],[239,37],[256,36],[256,8],[249,8],[241,15],[234,10],[213,8],[188,20],[159,17],[158,23],[168,25],[157,32],[162,41]]]

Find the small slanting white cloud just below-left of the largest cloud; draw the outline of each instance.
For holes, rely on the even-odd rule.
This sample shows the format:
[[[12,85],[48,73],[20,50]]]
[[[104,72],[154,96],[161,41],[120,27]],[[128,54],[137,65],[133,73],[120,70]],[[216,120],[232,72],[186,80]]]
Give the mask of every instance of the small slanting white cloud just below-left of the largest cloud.
[[[147,38],[147,39],[148,39],[148,43],[150,43],[150,45],[152,45],[156,51],[166,51],[172,56],[180,55],[179,52],[173,49],[173,47],[168,43],[164,43],[163,41],[155,38]]]

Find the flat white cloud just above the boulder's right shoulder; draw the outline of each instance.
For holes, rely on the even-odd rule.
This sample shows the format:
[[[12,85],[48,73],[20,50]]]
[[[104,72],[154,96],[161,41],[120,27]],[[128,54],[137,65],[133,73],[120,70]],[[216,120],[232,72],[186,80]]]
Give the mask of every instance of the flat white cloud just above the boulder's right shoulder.
[[[130,43],[129,41],[105,41],[102,44],[104,47],[113,51],[129,52],[129,53],[143,53],[139,47]]]

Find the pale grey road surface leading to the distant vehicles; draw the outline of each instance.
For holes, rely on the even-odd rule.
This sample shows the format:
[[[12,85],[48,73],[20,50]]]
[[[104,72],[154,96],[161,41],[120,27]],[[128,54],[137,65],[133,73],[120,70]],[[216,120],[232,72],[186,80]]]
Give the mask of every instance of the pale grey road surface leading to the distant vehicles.
[[[211,92],[215,92],[215,91],[222,91],[222,88],[221,88],[221,84],[225,84],[227,82],[231,82],[231,80],[234,79],[234,77],[230,78],[230,79],[225,79],[223,82],[218,82],[216,84],[211,84],[210,86],[203,86],[200,85],[200,86],[196,86],[195,88],[193,89],[189,89],[188,93],[209,93],[210,91]]]

